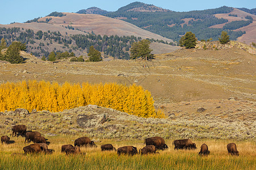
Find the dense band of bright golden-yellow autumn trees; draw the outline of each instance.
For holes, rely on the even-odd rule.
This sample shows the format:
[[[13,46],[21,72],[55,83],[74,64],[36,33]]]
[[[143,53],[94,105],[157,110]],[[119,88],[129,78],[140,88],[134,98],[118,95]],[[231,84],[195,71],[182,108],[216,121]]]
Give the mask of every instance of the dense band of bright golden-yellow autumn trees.
[[[140,117],[163,118],[162,111],[155,111],[151,93],[135,84],[117,83],[63,85],[36,80],[0,84],[0,111],[16,108],[61,112],[88,104],[113,108]]]

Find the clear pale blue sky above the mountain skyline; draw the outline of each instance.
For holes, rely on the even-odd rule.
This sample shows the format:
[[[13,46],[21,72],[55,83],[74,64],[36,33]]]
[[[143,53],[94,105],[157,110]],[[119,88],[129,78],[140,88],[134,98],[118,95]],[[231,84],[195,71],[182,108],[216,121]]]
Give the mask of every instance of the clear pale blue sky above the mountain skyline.
[[[99,7],[102,10],[116,11],[118,8],[128,5],[129,0],[1,0],[0,24],[10,24],[12,22],[23,23],[34,18],[44,17],[53,11],[57,12],[77,12],[89,7]],[[255,0],[194,0],[194,1],[139,1],[152,4],[158,7],[173,11],[192,11],[217,8],[221,6],[256,8]],[[214,2],[214,3],[213,3]]]

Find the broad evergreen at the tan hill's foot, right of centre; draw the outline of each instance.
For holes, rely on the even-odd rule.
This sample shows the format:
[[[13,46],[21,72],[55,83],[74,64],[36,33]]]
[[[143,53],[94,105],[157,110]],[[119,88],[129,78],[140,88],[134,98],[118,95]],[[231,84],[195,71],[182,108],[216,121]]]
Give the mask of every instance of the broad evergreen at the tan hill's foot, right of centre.
[[[152,49],[150,49],[149,40],[141,40],[139,42],[134,42],[131,44],[131,59],[143,58],[143,59],[153,59],[154,55],[151,54]]]

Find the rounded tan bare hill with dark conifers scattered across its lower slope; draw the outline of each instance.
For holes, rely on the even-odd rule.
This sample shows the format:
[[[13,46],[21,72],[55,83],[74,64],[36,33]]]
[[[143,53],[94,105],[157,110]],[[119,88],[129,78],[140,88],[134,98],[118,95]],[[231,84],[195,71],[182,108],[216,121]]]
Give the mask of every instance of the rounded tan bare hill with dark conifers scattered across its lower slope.
[[[26,23],[0,25],[0,39],[4,37],[8,45],[14,40],[26,43],[28,53],[37,57],[47,57],[52,51],[87,56],[93,45],[106,58],[129,59],[131,44],[141,39],[152,41],[154,54],[179,49],[168,45],[174,43],[171,39],[122,20],[97,14],[59,13]]]

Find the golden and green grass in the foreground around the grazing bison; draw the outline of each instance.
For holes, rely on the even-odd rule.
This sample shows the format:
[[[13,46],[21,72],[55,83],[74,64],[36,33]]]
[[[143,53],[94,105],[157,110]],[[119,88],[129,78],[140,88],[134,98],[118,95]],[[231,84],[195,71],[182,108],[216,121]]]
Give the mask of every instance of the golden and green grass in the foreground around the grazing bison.
[[[81,155],[65,155],[60,152],[61,145],[71,143],[77,137],[60,136],[48,138],[49,148],[55,150],[52,155],[24,155],[24,138],[13,138],[11,145],[0,145],[0,169],[254,169],[256,165],[256,145],[251,141],[206,140],[194,141],[197,147],[207,143],[210,155],[201,157],[196,150],[174,150],[172,139],[166,140],[168,150],[155,155],[121,155],[114,151],[101,152],[100,145],[112,143],[118,148],[133,145],[142,148],[143,141],[121,139],[99,139],[97,148],[81,148]],[[237,143],[240,156],[228,155],[226,145]],[[27,144],[26,144],[27,145]],[[15,154],[13,154],[15,153]]]

